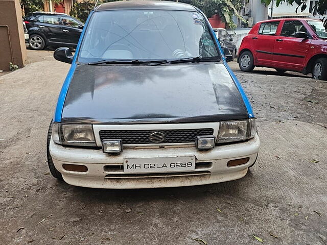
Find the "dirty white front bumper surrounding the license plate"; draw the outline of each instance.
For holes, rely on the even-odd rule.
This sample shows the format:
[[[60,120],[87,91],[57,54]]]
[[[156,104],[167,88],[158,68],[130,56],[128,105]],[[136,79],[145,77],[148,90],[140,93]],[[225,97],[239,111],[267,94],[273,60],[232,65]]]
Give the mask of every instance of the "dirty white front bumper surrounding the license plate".
[[[195,147],[164,149],[124,149],[118,156],[109,156],[102,150],[70,148],[58,145],[51,140],[50,154],[55,167],[62,174],[64,181],[71,185],[109,188],[134,189],[177,187],[212,184],[240,179],[246,175],[258,155],[260,140],[256,134],[246,142],[216,146],[210,151],[198,151]],[[196,167],[194,171],[168,175],[127,175],[123,171],[112,171],[106,166],[123,165],[124,158],[195,156],[196,163],[209,163]],[[233,159],[249,157],[243,165],[227,167]],[[74,172],[63,169],[62,164],[80,164],[87,166],[87,172]]]

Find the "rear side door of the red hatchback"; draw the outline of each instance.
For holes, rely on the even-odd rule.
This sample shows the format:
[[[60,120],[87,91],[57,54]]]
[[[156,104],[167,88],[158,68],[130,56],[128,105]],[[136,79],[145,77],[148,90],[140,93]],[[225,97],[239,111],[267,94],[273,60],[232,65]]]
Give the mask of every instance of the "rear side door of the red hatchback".
[[[272,52],[280,21],[267,21],[260,24],[258,35],[252,35],[252,50],[255,65],[272,65]]]

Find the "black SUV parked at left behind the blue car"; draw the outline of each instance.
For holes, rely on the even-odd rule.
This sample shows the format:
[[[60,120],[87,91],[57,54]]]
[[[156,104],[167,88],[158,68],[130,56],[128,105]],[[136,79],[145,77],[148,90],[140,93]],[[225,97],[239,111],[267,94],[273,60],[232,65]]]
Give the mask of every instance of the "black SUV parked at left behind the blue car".
[[[76,47],[84,24],[62,13],[33,12],[25,17],[29,44],[33,50],[46,46]]]

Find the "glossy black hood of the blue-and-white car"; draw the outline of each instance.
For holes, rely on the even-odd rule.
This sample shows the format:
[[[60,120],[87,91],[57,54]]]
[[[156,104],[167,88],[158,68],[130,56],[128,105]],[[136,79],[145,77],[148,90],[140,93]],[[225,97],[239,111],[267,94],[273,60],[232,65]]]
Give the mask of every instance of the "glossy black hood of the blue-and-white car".
[[[144,124],[248,118],[222,63],[78,65],[61,122]]]

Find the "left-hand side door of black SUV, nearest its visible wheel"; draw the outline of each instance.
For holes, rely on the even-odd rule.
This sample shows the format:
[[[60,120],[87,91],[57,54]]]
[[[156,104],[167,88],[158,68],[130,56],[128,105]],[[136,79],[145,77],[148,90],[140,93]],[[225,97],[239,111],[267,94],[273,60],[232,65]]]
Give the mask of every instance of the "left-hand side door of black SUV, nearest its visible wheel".
[[[57,43],[63,39],[60,18],[56,15],[41,15],[35,22],[38,28],[49,42]]]

